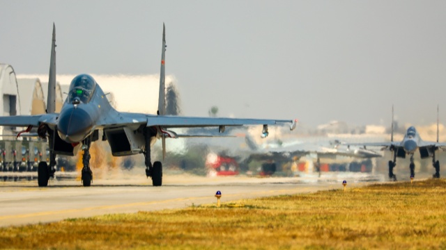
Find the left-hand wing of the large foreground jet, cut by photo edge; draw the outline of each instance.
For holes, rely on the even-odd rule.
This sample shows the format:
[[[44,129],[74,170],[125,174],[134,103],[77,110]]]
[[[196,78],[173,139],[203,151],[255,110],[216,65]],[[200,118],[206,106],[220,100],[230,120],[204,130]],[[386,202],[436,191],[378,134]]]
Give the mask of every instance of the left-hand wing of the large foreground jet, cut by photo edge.
[[[39,126],[40,124],[56,124],[56,118],[59,114],[43,115],[13,115],[0,117],[0,126]]]

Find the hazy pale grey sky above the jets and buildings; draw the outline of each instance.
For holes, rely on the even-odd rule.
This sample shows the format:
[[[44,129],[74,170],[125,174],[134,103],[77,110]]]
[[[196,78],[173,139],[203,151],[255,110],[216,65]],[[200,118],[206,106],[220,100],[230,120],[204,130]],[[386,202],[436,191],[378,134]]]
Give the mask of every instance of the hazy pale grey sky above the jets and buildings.
[[[216,105],[224,116],[388,125],[394,104],[417,125],[435,122],[439,104],[446,122],[446,1],[0,6],[0,63],[17,74],[47,74],[53,22],[58,74],[158,74],[165,22],[185,115]]]

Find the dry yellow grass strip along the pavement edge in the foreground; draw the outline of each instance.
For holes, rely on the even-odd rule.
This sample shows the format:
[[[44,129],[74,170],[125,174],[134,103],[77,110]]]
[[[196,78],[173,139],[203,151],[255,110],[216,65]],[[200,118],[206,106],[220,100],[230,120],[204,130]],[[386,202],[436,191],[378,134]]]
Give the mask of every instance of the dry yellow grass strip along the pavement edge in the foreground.
[[[13,249],[446,249],[446,181],[0,228]]]

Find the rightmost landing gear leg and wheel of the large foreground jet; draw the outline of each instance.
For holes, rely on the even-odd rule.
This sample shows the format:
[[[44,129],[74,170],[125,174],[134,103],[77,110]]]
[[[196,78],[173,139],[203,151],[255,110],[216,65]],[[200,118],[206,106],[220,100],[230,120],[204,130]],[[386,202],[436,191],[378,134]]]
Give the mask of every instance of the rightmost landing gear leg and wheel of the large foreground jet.
[[[152,184],[154,186],[162,185],[162,163],[159,161],[155,161],[155,163],[151,163],[151,139],[156,136],[157,131],[154,131],[153,128],[144,128],[144,139],[145,139],[145,148],[144,151],[144,163],[146,165],[146,176],[151,176]]]

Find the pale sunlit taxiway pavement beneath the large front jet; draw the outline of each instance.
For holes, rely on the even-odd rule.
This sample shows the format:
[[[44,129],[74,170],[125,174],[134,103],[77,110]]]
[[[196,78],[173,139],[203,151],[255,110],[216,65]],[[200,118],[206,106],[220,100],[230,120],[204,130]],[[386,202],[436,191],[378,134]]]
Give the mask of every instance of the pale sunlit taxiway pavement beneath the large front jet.
[[[162,187],[153,187],[144,176],[93,180],[84,188],[76,180],[52,180],[47,188],[37,181],[0,182],[0,226],[55,222],[61,219],[91,217],[110,213],[136,213],[144,210],[185,208],[280,194],[340,189],[341,178],[255,178],[247,176],[206,178],[164,174]],[[347,177],[348,178],[348,177]],[[364,185],[361,178],[349,179],[348,188]],[[362,180],[362,179],[361,179]]]

